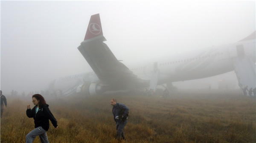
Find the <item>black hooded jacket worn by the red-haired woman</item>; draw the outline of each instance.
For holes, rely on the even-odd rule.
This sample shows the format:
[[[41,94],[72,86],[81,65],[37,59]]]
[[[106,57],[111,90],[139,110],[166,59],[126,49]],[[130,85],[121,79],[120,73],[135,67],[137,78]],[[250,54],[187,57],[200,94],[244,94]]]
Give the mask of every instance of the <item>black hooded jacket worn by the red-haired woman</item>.
[[[45,104],[43,107],[41,107],[38,112],[35,114],[35,108],[33,109],[27,109],[26,115],[29,118],[34,118],[35,122],[35,128],[38,126],[41,126],[44,130],[48,131],[49,129],[49,120],[52,122],[52,125],[56,128],[58,126],[56,119],[52,115],[52,112],[48,108],[49,105]]]

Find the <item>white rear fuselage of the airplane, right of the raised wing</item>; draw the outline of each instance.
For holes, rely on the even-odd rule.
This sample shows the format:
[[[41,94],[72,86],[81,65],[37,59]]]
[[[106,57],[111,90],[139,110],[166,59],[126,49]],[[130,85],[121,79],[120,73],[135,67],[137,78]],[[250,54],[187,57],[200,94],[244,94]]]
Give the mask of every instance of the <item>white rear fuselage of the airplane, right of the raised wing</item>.
[[[150,80],[154,67],[157,66],[158,84],[215,76],[234,70],[232,58],[237,56],[236,45],[243,45],[244,55],[255,62],[254,39],[175,54],[168,59],[132,68],[131,71],[141,79]]]

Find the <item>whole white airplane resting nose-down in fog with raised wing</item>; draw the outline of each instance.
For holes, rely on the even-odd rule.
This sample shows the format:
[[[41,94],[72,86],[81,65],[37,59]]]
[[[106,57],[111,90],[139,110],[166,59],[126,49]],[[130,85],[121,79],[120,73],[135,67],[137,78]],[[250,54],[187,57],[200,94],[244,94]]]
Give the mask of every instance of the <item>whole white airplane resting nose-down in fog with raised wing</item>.
[[[175,81],[202,79],[233,70],[241,89],[255,88],[255,35],[254,31],[239,42],[180,53],[129,69],[104,43],[101,20],[95,14],[90,17],[84,41],[78,47],[93,72],[55,79],[50,90],[61,90],[62,95],[100,95],[143,87],[155,91],[162,84],[172,90]]]

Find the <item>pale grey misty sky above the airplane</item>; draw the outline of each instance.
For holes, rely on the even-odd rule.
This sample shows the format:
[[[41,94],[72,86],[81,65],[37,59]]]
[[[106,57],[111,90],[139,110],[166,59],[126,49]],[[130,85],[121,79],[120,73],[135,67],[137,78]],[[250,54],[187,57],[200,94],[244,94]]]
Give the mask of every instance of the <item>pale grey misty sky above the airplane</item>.
[[[44,90],[92,71],[77,47],[100,14],[105,42],[128,67],[237,42],[255,31],[255,1],[1,1],[3,94]],[[235,77],[236,78],[236,77]]]

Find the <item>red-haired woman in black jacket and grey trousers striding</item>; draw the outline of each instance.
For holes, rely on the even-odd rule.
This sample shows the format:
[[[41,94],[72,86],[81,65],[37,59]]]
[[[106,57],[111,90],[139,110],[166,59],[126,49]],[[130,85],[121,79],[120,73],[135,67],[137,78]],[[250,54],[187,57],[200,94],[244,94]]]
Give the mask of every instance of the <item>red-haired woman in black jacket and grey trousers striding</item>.
[[[46,104],[44,97],[40,94],[32,96],[32,103],[35,105],[33,109],[30,109],[30,105],[27,105],[26,115],[29,118],[34,118],[35,129],[26,135],[26,143],[33,143],[35,137],[39,135],[41,143],[49,143],[46,132],[49,129],[49,120],[55,129],[58,128],[58,124],[52,112],[49,110],[49,105]]]

